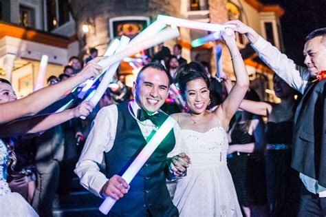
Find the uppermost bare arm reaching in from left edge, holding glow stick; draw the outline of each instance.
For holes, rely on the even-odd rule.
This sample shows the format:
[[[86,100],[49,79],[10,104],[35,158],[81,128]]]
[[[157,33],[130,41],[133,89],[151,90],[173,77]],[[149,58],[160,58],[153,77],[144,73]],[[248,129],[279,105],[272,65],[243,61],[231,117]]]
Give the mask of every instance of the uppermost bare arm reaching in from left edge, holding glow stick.
[[[85,68],[65,81],[42,88],[23,99],[10,103],[0,104],[0,124],[8,123],[23,116],[34,115],[43,108],[54,103],[66,92],[87,79],[97,76],[102,72],[102,67],[94,62],[88,63]]]

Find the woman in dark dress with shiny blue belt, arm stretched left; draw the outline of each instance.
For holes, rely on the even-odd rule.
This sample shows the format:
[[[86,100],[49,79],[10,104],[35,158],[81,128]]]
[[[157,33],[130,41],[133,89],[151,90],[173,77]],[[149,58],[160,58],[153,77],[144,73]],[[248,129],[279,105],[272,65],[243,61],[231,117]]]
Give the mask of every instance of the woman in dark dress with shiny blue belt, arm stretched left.
[[[268,118],[265,165],[270,216],[296,216],[300,182],[290,167],[295,92],[279,76],[274,76],[274,92],[281,103],[243,100],[240,108]]]

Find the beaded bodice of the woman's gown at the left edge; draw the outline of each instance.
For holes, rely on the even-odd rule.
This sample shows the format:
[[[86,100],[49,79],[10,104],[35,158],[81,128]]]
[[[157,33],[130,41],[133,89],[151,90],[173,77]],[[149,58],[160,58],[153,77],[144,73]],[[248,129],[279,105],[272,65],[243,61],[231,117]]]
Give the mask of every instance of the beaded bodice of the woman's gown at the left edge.
[[[0,139],[0,195],[10,193],[7,183],[7,163],[9,160],[6,144]]]

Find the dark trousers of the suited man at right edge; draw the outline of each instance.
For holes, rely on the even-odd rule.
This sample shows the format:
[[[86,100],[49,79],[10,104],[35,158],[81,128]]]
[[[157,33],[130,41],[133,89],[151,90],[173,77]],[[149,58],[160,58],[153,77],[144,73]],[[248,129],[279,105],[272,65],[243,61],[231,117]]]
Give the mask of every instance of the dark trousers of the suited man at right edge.
[[[326,216],[326,198],[312,194],[304,185],[301,186],[300,205],[298,217]]]

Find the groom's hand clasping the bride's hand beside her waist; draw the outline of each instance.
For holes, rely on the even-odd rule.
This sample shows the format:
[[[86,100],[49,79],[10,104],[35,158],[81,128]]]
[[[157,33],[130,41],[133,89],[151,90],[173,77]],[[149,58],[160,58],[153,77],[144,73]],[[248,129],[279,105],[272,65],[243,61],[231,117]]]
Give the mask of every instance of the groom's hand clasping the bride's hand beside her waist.
[[[174,176],[180,177],[184,175],[190,163],[191,158],[184,153],[180,153],[171,158],[169,170]]]

